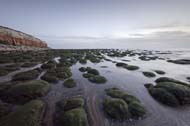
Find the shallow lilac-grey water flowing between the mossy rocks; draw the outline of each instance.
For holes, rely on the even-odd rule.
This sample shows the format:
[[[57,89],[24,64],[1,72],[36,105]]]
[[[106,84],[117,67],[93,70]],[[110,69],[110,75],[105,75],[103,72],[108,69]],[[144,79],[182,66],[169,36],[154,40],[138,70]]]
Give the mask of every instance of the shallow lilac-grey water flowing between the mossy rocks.
[[[172,54],[157,54],[165,59],[175,58],[190,58],[190,52],[173,52]],[[46,113],[43,119],[44,126],[53,126],[55,115],[55,103],[60,99],[72,97],[75,95],[82,95],[85,98],[85,109],[88,114],[89,126],[190,126],[190,105],[183,107],[172,108],[155,101],[144,87],[145,83],[154,83],[154,80],[161,77],[173,77],[187,82],[186,77],[190,76],[190,65],[178,65],[166,62],[166,60],[152,60],[141,61],[137,57],[122,57],[111,58],[112,61],[125,62],[130,65],[137,65],[139,70],[129,71],[115,66],[115,63],[110,61],[102,61],[98,64],[87,62],[82,65],[76,63],[71,67],[72,77],[77,82],[74,88],[65,88],[62,80],[57,84],[51,84],[51,90],[43,97],[47,103]],[[58,62],[59,58],[56,58]],[[130,60],[123,61],[123,60]],[[18,71],[12,72],[7,76],[0,77],[0,82],[10,81],[11,77],[18,72],[27,71],[32,68],[22,68]],[[82,73],[78,70],[80,67],[92,67],[97,69],[101,75],[107,78],[105,84],[94,84],[82,77]],[[107,66],[102,68],[102,66]],[[163,70],[165,75],[158,75],[154,78],[147,78],[142,74],[142,71]],[[43,75],[44,72],[41,74]],[[41,76],[40,75],[40,76]],[[38,77],[39,79],[40,77]],[[114,121],[104,113],[102,107],[102,100],[106,97],[104,89],[109,87],[118,87],[127,93],[136,96],[140,99],[142,104],[147,109],[146,117],[133,121]]]

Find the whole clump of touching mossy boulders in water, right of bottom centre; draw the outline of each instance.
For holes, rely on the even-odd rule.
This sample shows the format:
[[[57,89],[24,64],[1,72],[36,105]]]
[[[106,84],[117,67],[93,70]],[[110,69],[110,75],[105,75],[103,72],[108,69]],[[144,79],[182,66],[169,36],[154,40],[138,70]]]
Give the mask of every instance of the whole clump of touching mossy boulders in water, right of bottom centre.
[[[106,89],[107,95],[112,98],[103,102],[105,112],[114,119],[130,119],[143,117],[146,113],[140,101],[118,88]]]

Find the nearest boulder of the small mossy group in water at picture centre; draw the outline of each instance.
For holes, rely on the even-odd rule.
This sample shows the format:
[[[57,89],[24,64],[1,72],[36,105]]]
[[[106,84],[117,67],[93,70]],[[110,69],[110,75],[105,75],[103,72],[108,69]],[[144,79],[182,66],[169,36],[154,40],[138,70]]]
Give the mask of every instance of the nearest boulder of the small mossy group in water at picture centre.
[[[88,78],[88,80],[92,83],[97,83],[97,84],[103,84],[106,83],[107,79],[103,76],[96,75]]]

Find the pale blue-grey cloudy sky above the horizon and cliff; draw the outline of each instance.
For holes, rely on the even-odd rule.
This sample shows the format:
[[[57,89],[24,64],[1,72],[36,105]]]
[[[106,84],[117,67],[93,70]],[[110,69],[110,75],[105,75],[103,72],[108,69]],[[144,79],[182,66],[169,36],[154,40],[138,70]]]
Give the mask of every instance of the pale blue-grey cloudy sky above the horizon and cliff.
[[[190,49],[190,0],[0,0],[0,25],[52,48]]]

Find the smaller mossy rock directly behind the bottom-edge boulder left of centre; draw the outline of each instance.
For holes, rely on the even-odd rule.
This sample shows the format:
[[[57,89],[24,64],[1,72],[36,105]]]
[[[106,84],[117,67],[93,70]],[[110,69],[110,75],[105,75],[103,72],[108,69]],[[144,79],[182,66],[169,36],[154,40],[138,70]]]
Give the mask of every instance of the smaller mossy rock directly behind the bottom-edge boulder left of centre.
[[[67,100],[60,100],[56,103],[59,111],[68,111],[74,108],[82,108],[84,106],[84,99],[82,97],[73,97]]]

